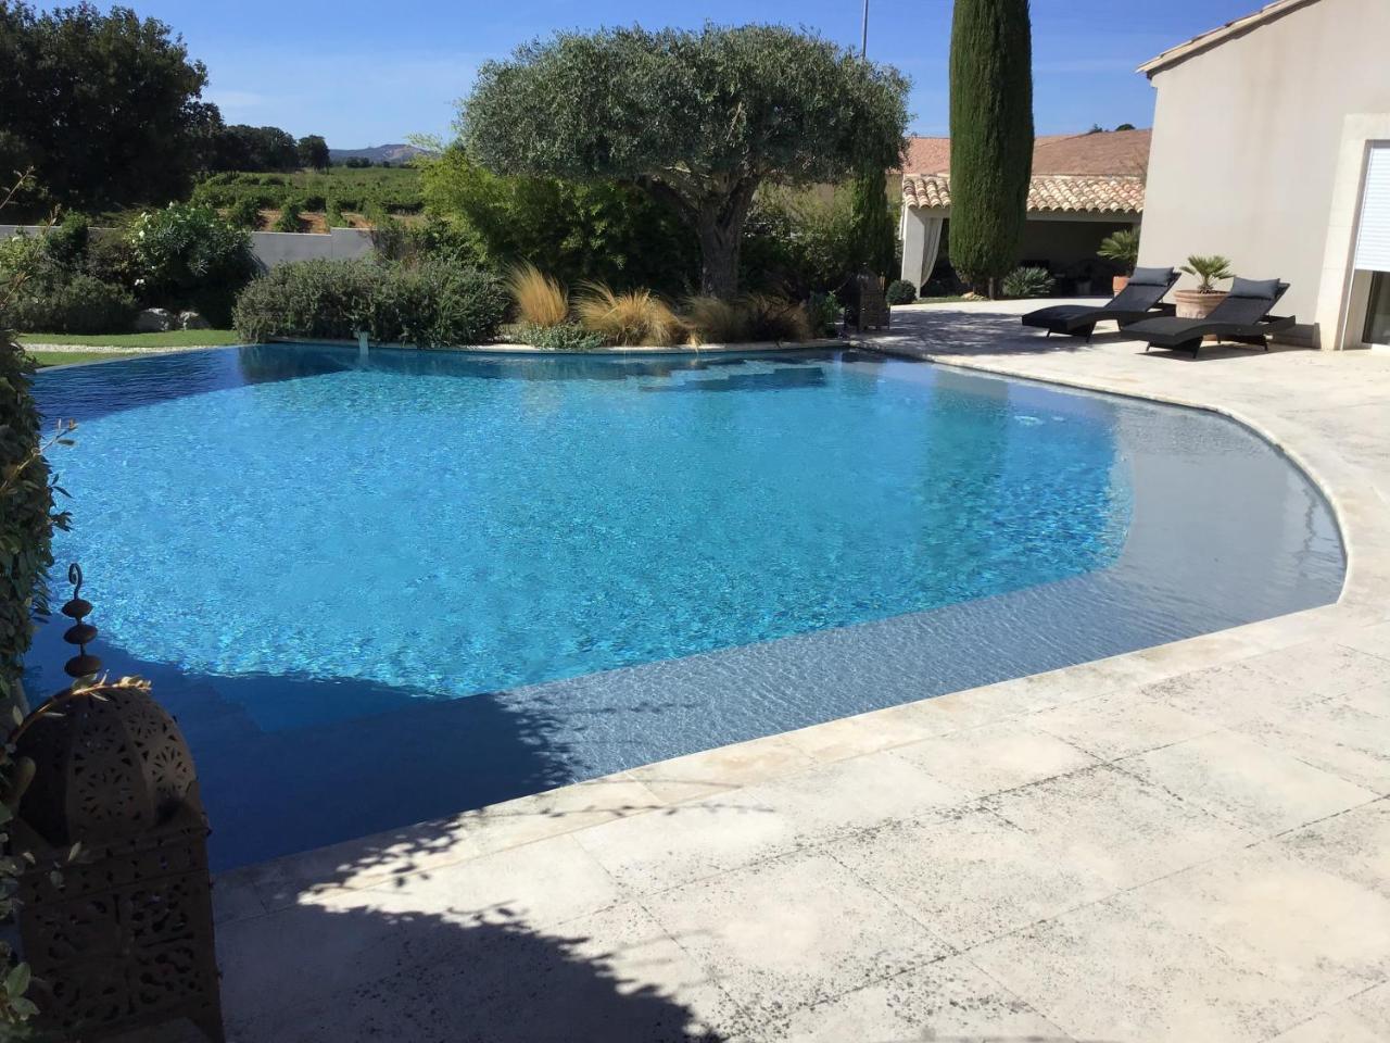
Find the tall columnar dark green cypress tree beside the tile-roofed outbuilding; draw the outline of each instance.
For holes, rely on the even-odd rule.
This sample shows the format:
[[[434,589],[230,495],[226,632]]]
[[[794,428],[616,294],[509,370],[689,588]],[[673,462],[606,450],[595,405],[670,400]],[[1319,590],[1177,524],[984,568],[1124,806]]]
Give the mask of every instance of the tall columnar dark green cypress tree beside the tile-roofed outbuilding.
[[[995,296],[1017,261],[1033,174],[1029,0],[956,0],[951,22],[951,263]]]

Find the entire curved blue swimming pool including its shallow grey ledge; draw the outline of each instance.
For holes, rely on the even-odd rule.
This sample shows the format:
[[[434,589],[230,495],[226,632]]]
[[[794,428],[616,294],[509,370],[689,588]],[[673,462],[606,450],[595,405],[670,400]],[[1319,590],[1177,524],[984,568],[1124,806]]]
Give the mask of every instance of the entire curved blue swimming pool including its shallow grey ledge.
[[[275,345],[36,385],[81,424],[56,553],[97,654],[179,718],[220,866],[1326,604],[1344,572],[1320,495],[1234,423],[856,352]]]

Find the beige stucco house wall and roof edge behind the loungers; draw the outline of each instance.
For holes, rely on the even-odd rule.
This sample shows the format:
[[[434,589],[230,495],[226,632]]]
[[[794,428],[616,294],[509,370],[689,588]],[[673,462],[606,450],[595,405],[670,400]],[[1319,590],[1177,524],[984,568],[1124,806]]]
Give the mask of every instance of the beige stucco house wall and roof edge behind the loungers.
[[[1290,284],[1302,339],[1390,343],[1390,0],[1279,0],[1140,71],[1140,263],[1220,253]]]

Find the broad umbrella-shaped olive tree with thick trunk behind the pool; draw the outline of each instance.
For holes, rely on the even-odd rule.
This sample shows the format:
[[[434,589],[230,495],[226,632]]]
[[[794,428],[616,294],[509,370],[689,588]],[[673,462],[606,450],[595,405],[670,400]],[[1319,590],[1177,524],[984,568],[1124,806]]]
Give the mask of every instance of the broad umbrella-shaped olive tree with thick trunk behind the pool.
[[[459,127],[498,174],[667,202],[699,239],[703,292],[731,298],[759,185],[897,165],[906,95],[897,70],[781,26],[562,32],[485,64]]]

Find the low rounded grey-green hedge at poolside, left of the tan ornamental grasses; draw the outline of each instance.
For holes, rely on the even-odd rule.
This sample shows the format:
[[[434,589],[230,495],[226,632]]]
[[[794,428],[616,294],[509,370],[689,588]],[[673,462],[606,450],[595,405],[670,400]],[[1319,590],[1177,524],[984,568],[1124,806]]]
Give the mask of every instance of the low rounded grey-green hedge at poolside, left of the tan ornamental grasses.
[[[232,318],[252,342],[352,339],[366,330],[374,341],[442,348],[492,339],[509,307],[500,278],[445,260],[307,260],[254,280]]]

